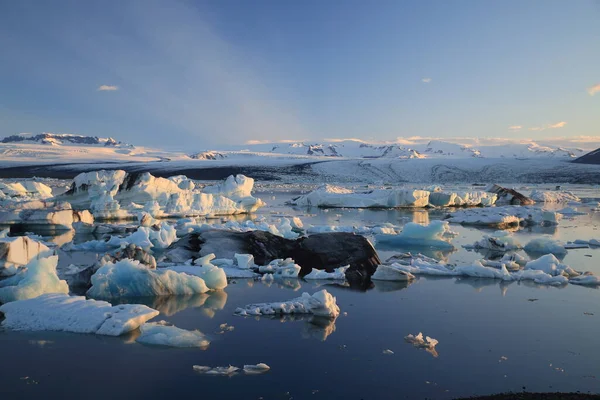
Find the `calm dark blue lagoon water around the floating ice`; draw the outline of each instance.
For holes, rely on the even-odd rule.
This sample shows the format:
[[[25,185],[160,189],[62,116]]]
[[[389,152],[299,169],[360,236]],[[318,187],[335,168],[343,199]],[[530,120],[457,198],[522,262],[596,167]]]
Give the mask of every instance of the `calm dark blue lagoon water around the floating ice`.
[[[576,193],[578,188],[572,188]],[[600,196],[582,187],[579,195]],[[259,214],[298,215],[305,224],[377,225],[428,222],[446,211],[294,209],[293,196],[257,194],[269,203]],[[563,205],[564,206],[564,205]],[[563,207],[559,206],[559,207]],[[558,227],[521,229],[521,243],[540,235],[568,241],[600,239],[600,213],[565,218]],[[247,217],[246,217],[247,218]],[[459,233],[450,263],[484,257],[462,245],[492,229],[452,225]],[[83,240],[76,237],[76,240]],[[378,249],[380,257],[423,249]],[[523,253],[524,254],[524,253]],[[61,257],[63,254],[61,253]],[[75,256],[76,258],[76,256]],[[68,263],[72,258],[64,261]],[[569,250],[563,262],[600,274],[599,249]],[[249,303],[287,300],[326,288],[342,314],[334,322],[309,317],[234,316]],[[567,285],[474,278],[417,277],[412,283],[376,282],[353,290],[332,282],[236,279],[222,292],[193,297],[130,299],[159,311],[158,319],[209,336],[210,346],[173,349],[125,337],[0,330],[2,398],[228,399],[450,399],[506,391],[600,392],[600,291]],[[232,325],[220,332],[219,325]],[[436,353],[404,336],[439,340]],[[384,354],[384,350],[393,354]],[[262,375],[206,376],[193,365],[241,367],[264,362]]]

